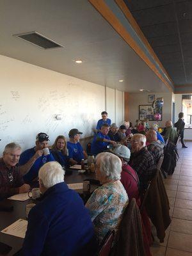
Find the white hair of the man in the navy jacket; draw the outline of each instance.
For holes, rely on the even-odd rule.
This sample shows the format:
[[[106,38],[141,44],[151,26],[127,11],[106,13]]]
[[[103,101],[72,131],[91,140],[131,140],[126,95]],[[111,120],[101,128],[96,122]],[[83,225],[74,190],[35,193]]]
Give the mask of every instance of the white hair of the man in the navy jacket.
[[[42,180],[45,188],[51,188],[52,186],[64,181],[65,171],[61,164],[56,161],[46,163],[40,168],[38,177]]]

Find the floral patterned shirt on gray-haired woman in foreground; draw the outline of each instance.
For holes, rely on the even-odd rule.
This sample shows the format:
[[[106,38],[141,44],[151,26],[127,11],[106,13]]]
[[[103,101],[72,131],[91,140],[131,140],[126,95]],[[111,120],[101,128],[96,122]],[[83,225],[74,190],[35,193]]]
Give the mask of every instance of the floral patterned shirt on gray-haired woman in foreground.
[[[109,230],[118,229],[128,202],[127,193],[120,180],[106,183],[95,189],[86,207],[90,211],[99,243]]]

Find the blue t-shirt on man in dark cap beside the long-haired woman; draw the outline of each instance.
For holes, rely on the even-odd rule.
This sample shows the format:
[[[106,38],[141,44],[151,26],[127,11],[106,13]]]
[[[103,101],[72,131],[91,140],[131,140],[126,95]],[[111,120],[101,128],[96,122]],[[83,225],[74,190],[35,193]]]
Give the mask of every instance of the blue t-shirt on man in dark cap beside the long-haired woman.
[[[70,141],[67,141],[67,148],[69,159],[72,158],[77,161],[77,163],[81,163],[81,159],[84,159],[83,147],[81,146],[81,144],[79,142],[72,143]]]

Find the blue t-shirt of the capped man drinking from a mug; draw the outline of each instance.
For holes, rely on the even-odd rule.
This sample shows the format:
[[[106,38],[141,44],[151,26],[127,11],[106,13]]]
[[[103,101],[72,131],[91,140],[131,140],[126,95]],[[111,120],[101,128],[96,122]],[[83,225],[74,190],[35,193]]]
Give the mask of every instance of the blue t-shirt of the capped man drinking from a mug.
[[[35,147],[25,150],[20,155],[19,165],[24,165],[24,164],[28,163],[29,159],[31,159],[31,157],[33,157],[34,155],[35,155]],[[24,181],[28,182],[28,183],[32,182],[33,179],[38,177],[38,170],[45,163],[48,163],[48,162],[51,162],[51,161],[55,161],[52,154],[49,154],[47,156],[42,155],[42,156],[38,157],[38,159],[36,159],[33,166],[31,166],[31,169],[29,170],[29,172],[26,173],[26,175],[23,176]]]

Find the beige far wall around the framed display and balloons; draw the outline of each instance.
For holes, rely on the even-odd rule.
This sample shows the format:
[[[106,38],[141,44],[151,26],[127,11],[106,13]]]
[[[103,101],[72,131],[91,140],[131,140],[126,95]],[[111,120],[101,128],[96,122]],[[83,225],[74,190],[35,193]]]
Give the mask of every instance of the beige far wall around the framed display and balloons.
[[[148,103],[148,95],[155,95],[156,98],[163,97],[163,116],[162,121],[158,122],[160,127],[164,127],[166,120],[172,120],[172,93],[130,93],[129,94],[129,120],[135,124],[136,119],[139,118],[139,105],[150,105]],[[154,121],[149,122],[153,124]]]

